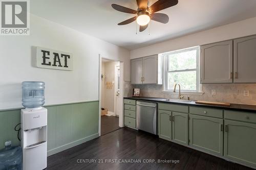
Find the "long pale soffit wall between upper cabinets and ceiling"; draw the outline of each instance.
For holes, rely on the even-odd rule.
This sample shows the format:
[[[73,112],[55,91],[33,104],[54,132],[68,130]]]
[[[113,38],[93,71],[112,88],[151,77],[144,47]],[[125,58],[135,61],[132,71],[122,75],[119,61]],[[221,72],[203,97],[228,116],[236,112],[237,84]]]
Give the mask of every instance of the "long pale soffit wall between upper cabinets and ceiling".
[[[256,17],[131,51],[131,59],[256,34]]]

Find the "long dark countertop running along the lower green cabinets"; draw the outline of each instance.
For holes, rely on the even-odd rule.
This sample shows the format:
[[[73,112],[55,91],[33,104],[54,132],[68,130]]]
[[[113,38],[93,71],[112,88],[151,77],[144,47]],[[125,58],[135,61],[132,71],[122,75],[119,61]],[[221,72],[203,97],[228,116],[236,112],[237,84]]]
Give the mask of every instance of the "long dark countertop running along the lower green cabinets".
[[[171,104],[179,104],[179,105],[188,105],[188,106],[197,106],[197,107],[208,107],[208,108],[216,108],[216,109],[225,109],[225,110],[236,110],[236,111],[246,111],[246,112],[254,112],[256,113],[256,105],[243,105],[243,104],[232,104],[230,107],[227,106],[213,106],[213,105],[203,105],[203,104],[196,104],[195,101],[191,102],[178,102],[175,100],[170,99],[170,101],[166,101],[167,98],[152,98],[152,97],[142,97],[142,96],[128,96],[124,97],[123,99],[132,99],[132,100],[139,100],[139,101],[150,101],[150,102],[161,102],[161,103],[171,103]]]

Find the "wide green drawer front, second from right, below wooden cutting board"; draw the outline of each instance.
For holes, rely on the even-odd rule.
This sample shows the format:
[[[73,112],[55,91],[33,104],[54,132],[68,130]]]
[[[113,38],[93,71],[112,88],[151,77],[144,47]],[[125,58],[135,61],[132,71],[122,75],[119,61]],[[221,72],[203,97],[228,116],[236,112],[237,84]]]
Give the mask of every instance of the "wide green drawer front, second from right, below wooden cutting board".
[[[189,113],[203,115],[203,116],[210,116],[210,117],[217,117],[223,118],[223,110],[219,109],[209,109],[204,107],[189,107]]]

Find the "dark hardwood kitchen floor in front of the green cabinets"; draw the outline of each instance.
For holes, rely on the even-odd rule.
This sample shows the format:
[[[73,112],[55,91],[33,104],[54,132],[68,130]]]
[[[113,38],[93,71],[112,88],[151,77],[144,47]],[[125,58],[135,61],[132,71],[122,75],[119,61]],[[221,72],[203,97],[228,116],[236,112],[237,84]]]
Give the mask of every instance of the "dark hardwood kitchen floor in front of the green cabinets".
[[[95,159],[96,162],[78,163]],[[110,163],[108,159],[117,159]],[[120,160],[179,160],[179,163],[120,163]],[[89,161],[88,160],[88,161]],[[101,163],[101,160],[103,163]],[[99,163],[100,161],[100,163]],[[105,162],[107,161],[107,162]],[[115,161],[115,160],[114,160]],[[122,128],[48,157],[47,169],[251,169],[221,158]]]

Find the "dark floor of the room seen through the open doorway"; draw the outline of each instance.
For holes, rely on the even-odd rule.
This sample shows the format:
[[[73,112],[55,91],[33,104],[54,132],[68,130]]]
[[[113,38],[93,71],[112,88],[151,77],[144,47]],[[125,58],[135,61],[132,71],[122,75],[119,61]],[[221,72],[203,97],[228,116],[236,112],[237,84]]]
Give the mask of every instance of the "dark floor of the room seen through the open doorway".
[[[101,116],[101,135],[120,129],[118,124],[119,117],[106,115]]]

